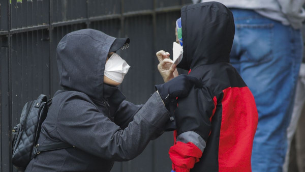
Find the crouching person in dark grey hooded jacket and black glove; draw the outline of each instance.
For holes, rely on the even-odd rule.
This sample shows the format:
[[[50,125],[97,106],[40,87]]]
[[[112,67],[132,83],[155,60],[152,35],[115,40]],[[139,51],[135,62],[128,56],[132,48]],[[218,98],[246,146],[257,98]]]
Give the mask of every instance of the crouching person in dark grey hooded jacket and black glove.
[[[72,32],[59,42],[57,65],[64,90],[52,99],[38,144],[74,147],[41,152],[25,171],[110,171],[114,161],[135,158],[163,132],[169,120],[165,105],[175,96],[186,96],[192,78],[157,85],[160,96],[155,92],[144,105],[134,105],[117,87],[104,84],[107,55],[125,44],[120,42],[91,29]]]

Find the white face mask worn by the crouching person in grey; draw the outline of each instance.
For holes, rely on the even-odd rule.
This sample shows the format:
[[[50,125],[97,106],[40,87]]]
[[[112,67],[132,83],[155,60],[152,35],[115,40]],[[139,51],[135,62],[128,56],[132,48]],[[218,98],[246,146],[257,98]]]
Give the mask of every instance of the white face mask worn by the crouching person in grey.
[[[105,65],[105,76],[115,82],[122,83],[130,66],[117,53],[113,53]]]

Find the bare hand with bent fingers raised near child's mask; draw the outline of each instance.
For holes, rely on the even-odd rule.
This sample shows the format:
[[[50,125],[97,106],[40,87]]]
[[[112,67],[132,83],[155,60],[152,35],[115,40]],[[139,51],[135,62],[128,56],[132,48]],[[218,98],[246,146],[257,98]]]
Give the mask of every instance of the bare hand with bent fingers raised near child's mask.
[[[156,55],[159,60],[158,70],[164,82],[167,82],[179,75],[176,69],[177,66],[173,65],[173,61],[169,59],[170,54],[168,52],[161,50],[158,51]]]

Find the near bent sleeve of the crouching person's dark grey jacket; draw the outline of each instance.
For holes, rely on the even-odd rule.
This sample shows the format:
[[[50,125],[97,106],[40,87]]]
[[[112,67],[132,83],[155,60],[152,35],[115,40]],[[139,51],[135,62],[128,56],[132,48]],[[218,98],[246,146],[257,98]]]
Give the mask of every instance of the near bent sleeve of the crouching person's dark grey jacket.
[[[67,98],[58,112],[59,139],[89,154],[112,161],[139,155],[151,137],[162,130],[168,113],[154,93],[124,130],[99,112],[85,95]]]

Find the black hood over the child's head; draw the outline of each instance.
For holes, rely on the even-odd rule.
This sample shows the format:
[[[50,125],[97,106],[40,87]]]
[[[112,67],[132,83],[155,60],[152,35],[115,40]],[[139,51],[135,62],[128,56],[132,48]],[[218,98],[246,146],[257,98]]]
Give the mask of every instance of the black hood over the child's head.
[[[184,6],[181,27],[184,53],[178,68],[230,62],[235,26],[226,6],[217,2]]]

